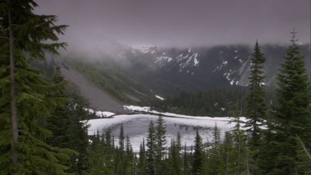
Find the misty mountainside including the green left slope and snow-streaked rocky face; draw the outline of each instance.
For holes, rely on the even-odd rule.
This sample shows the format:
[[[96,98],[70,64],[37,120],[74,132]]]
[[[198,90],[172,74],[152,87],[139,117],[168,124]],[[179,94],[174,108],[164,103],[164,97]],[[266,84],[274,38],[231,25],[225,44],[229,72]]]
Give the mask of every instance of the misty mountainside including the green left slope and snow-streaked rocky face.
[[[63,53],[63,65],[81,73],[96,88],[121,104],[144,104],[156,96],[197,92],[210,88],[247,86],[253,46],[229,45],[195,48],[141,48],[111,42],[113,50],[96,53]],[[262,45],[267,58],[265,85],[276,86],[279,63],[287,45]],[[310,73],[310,44],[300,45]],[[75,81],[74,77],[69,77]],[[96,98],[96,97],[95,97]],[[97,107],[98,108],[98,107]]]

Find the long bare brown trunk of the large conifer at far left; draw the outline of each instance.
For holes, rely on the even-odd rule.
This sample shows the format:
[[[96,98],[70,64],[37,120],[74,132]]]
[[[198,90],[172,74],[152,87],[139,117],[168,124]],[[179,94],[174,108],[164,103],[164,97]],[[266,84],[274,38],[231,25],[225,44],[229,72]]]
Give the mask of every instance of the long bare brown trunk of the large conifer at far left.
[[[7,3],[10,3],[10,0],[7,0]],[[13,56],[13,42],[14,36],[12,31],[12,14],[11,9],[8,9],[8,18],[9,18],[9,44],[10,44],[10,80],[11,80],[11,87],[10,87],[10,96],[11,96],[11,126],[12,126],[12,139],[13,143],[11,144],[11,153],[12,153],[12,163],[17,165],[18,157],[17,157],[17,148],[16,143],[18,142],[18,128],[17,128],[17,103],[15,98],[15,78],[14,78],[14,71],[15,71],[15,62]],[[17,166],[15,166],[17,167]],[[16,169],[17,171],[17,169]]]

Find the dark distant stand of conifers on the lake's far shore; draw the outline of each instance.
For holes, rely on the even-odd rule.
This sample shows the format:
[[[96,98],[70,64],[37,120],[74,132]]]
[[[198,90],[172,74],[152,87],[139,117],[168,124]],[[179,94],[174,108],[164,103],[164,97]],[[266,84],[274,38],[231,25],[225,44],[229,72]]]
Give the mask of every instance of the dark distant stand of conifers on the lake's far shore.
[[[244,97],[247,89],[209,89],[197,93],[181,92],[175,96],[166,96],[165,100],[155,99],[152,106],[163,110],[168,107],[169,112],[196,116],[228,116],[229,102],[237,102],[242,112],[245,111]]]

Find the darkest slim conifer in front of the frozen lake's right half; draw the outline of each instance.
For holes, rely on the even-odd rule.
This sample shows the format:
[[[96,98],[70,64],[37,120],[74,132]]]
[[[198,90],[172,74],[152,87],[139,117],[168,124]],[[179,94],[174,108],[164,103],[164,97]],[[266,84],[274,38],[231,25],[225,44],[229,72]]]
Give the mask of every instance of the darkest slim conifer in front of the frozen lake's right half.
[[[199,134],[199,130],[196,130],[196,136],[194,140],[194,153],[193,153],[193,160],[192,160],[192,174],[193,175],[200,175],[203,167],[203,158],[204,158],[204,151],[203,151],[203,140]]]

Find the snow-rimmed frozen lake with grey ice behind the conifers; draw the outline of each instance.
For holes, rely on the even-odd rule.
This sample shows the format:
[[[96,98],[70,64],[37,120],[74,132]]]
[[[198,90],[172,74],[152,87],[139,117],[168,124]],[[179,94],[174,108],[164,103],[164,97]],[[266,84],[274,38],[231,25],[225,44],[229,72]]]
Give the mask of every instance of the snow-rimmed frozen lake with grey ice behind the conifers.
[[[150,121],[154,121],[155,123],[157,118],[157,115],[134,114],[117,115],[110,119],[94,119],[89,121],[91,126],[88,134],[93,135],[97,129],[103,131],[110,126],[114,134],[115,144],[117,144],[119,142],[121,123],[123,123],[124,135],[129,135],[134,151],[139,151],[140,143],[143,138],[146,139],[148,136],[148,125]],[[215,123],[221,129],[222,137],[224,137],[225,131],[230,130],[234,126],[234,123],[227,124],[229,118],[220,117],[172,115],[172,117],[163,117],[163,119],[166,124],[167,146],[170,145],[173,138],[176,139],[178,131],[180,132],[183,146],[185,143],[187,146],[191,146],[194,145],[197,129],[203,140],[207,141],[212,139],[211,129],[215,126]]]

